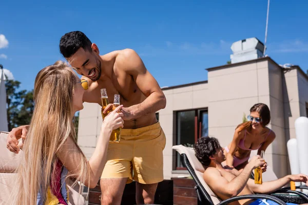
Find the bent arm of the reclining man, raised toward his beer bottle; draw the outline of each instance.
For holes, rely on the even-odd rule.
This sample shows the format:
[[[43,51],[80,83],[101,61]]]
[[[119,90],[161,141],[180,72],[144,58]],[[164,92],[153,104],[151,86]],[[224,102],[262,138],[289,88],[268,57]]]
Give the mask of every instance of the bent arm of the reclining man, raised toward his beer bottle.
[[[253,163],[248,163],[238,176],[228,181],[217,169],[207,168],[203,178],[211,190],[217,195],[230,198],[237,196],[244,189],[253,169]]]

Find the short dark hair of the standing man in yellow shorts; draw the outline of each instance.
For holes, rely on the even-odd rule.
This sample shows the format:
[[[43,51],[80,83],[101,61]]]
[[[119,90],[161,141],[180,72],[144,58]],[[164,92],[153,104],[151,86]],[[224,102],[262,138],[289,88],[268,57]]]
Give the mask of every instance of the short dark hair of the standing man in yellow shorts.
[[[91,51],[91,45],[91,40],[83,32],[72,31],[61,37],[59,47],[62,55],[68,58],[80,48]]]

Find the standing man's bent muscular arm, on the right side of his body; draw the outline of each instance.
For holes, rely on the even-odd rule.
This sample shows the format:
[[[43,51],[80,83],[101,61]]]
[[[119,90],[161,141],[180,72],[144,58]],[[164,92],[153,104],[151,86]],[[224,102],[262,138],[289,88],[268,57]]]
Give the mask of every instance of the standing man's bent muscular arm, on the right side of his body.
[[[147,97],[142,103],[123,108],[124,120],[136,119],[149,113],[154,113],[166,106],[166,98],[156,79],[147,71],[139,55],[125,49],[118,56],[117,66],[133,77],[138,88]]]

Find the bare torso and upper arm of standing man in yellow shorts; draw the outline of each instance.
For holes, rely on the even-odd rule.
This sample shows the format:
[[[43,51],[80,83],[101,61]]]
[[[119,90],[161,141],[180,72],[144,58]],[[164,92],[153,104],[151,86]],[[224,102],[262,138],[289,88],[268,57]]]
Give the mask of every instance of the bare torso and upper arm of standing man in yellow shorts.
[[[98,103],[102,106],[100,92],[102,88],[106,88],[109,103],[113,103],[114,94],[120,94],[120,104],[124,105],[124,109],[143,103],[153,91],[161,92],[163,95],[157,81],[145,69],[142,60],[134,51],[124,49],[100,57],[103,62],[101,77],[96,81],[86,76],[82,77],[89,82],[89,89],[83,97],[85,102]],[[129,58],[131,58],[131,64],[127,65]],[[155,124],[157,110],[153,107],[152,110],[148,109],[147,112],[132,119],[124,117],[124,129],[136,129]]]

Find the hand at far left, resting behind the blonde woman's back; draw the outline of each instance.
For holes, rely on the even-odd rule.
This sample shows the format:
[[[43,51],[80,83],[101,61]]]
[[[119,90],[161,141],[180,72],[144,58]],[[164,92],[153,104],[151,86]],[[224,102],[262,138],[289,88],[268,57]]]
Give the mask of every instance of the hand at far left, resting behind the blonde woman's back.
[[[16,154],[20,151],[20,148],[23,148],[24,141],[26,139],[28,133],[29,126],[23,125],[17,128],[13,128],[11,132],[9,132],[7,138],[7,148]],[[18,139],[22,138],[20,142]]]

